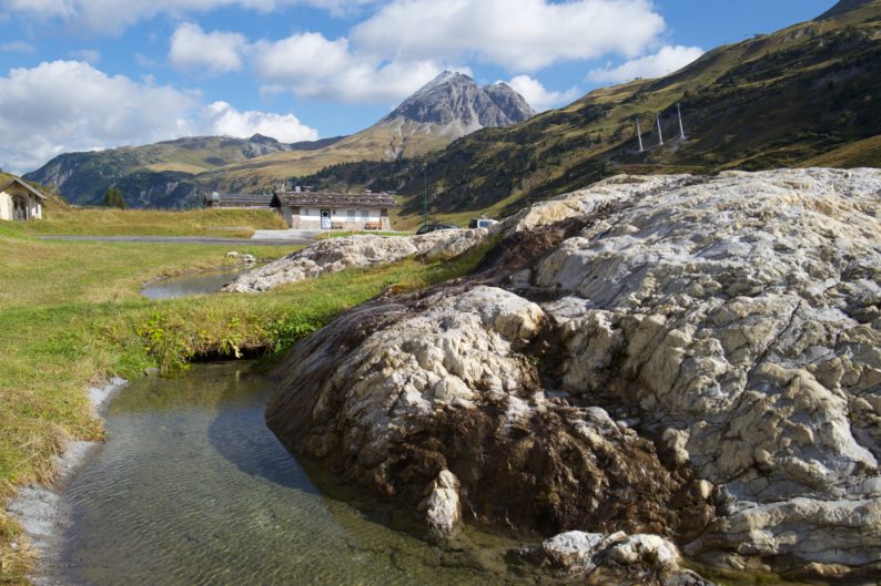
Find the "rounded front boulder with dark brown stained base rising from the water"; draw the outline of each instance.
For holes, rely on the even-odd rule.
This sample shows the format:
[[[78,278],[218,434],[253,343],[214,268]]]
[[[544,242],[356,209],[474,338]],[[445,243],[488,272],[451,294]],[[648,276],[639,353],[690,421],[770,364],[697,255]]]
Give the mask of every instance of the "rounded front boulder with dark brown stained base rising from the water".
[[[487,286],[364,306],[294,350],[267,423],[440,533],[456,492],[466,522],[529,532],[671,534],[686,508],[711,510],[651,442],[544,392],[528,349],[546,326],[537,304]]]

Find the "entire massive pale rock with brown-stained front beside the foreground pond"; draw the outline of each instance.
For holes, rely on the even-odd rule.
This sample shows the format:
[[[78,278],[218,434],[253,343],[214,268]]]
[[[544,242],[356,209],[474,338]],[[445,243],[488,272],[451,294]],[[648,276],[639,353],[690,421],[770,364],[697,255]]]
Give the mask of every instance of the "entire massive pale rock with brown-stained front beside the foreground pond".
[[[880,171],[801,169],[616,177],[538,204],[470,279],[297,346],[267,422],[414,510],[446,491],[438,518],[452,476],[465,522],[877,575],[880,194]]]

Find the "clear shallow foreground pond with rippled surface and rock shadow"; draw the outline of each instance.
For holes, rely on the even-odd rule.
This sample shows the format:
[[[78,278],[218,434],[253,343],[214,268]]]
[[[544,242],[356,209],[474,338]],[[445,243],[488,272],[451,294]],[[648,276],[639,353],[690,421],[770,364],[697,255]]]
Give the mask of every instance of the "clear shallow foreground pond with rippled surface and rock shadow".
[[[443,552],[392,528],[394,511],[307,475],[264,424],[271,388],[252,364],[224,363],[125,389],[105,444],[64,491],[72,524],[58,583],[519,582],[502,561],[510,543],[475,533],[470,551]]]

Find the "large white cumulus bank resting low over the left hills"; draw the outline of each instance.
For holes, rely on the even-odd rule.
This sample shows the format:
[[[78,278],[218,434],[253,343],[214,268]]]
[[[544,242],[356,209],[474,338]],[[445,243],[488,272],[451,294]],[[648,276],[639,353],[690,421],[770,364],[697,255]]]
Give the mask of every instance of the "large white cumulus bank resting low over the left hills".
[[[33,169],[62,152],[193,134],[317,136],[293,115],[205,105],[199,92],[108,75],[81,61],[44,62],[0,76],[0,132],[23,137],[0,144],[0,167],[13,172]]]

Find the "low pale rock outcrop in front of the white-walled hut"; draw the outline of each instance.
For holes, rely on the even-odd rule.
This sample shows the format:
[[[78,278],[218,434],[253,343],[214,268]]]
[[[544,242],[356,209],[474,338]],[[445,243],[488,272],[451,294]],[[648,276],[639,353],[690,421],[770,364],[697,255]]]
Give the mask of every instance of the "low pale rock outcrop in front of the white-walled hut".
[[[385,265],[418,256],[453,258],[486,238],[485,229],[438,230],[422,236],[347,236],[327,238],[242,275],[223,288],[227,292],[265,291],[348,268]]]

